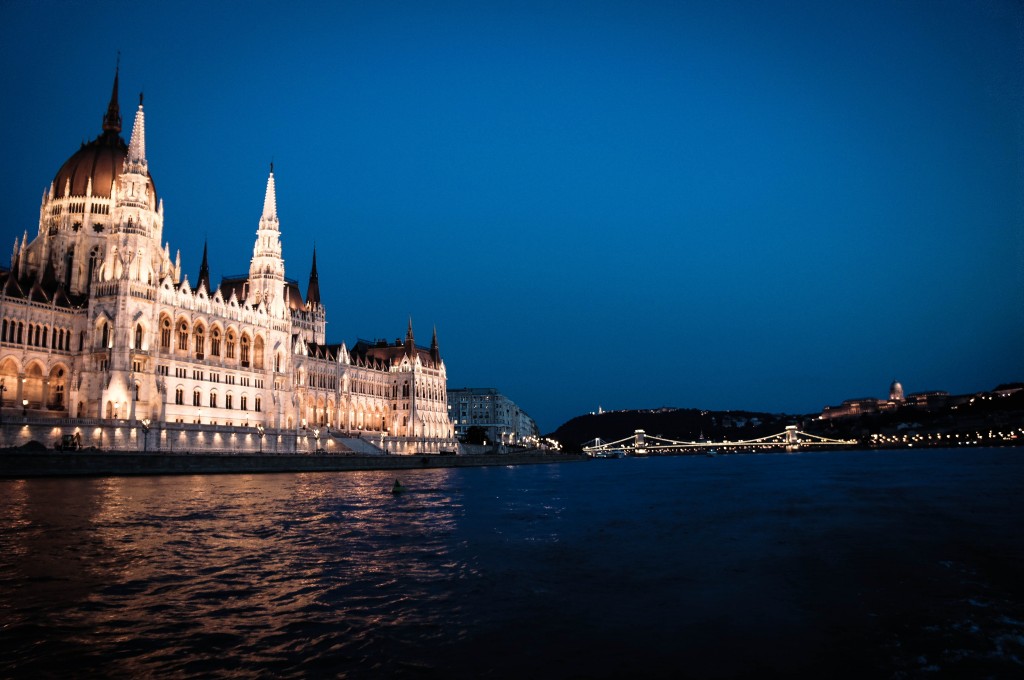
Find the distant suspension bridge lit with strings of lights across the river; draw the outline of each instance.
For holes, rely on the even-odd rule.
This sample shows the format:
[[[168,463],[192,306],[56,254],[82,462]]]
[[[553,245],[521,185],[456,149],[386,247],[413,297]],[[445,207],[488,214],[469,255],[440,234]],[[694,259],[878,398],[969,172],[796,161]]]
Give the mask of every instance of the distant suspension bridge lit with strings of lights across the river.
[[[855,439],[829,439],[802,432],[796,425],[786,426],[777,434],[770,434],[757,439],[739,439],[737,441],[676,441],[666,437],[647,434],[636,430],[633,436],[624,437],[617,441],[601,441],[600,438],[587,447],[584,453],[594,458],[612,458],[616,456],[658,456],[670,454],[699,454],[731,451],[801,451],[827,447],[850,447],[856,444]]]

